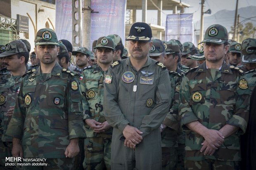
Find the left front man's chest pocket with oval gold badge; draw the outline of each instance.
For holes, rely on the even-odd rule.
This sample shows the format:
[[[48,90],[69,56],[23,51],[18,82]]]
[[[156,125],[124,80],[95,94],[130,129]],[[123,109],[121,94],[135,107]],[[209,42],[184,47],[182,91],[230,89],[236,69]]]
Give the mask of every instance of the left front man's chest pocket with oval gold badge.
[[[35,99],[36,99],[35,91],[36,91],[36,85],[23,86],[22,94],[23,94],[25,107],[32,107],[35,104]]]

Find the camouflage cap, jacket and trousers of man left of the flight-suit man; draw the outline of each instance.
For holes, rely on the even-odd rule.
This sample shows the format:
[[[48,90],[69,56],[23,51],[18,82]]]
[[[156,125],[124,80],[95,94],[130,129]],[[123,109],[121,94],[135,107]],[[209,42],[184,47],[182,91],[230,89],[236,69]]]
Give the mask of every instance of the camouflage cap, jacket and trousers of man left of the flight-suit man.
[[[107,40],[107,44],[102,45],[101,40]],[[114,42],[110,37],[100,37],[97,41],[97,48],[115,49]],[[94,119],[103,123],[106,121],[104,116],[104,77],[107,71],[103,71],[100,66],[89,66],[83,70],[80,88],[83,94],[83,110],[84,121],[86,119]],[[110,128],[102,133],[96,133],[85,123],[86,138],[85,160],[83,167],[86,170],[102,170],[104,167],[107,170],[111,169],[111,138],[113,128]]]

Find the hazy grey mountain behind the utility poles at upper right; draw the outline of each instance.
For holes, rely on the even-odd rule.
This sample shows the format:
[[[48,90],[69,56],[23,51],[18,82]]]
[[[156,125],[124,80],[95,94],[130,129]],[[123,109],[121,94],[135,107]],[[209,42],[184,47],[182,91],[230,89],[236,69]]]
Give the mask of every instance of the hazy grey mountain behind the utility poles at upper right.
[[[239,8],[237,14],[240,15],[239,21],[242,22],[243,24],[247,22],[251,22],[254,24],[254,26],[256,26],[256,17],[252,18],[251,20],[244,21],[250,17],[256,16],[256,6]],[[235,10],[233,11],[221,10],[211,16],[207,16],[207,15],[208,14],[204,14],[204,31],[213,24],[220,24],[225,26],[228,32],[231,30],[231,26],[234,26]],[[200,29],[200,24],[197,24],[196,29]]]

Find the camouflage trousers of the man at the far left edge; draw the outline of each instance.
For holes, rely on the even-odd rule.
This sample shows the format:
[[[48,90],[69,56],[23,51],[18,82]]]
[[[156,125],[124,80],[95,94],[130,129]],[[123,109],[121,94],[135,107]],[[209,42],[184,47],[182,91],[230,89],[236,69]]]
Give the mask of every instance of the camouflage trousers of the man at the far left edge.
[[[5,157],[12,156],[12,142],[0,142],[0,170],[12,170],[14,166],[5,166]]]

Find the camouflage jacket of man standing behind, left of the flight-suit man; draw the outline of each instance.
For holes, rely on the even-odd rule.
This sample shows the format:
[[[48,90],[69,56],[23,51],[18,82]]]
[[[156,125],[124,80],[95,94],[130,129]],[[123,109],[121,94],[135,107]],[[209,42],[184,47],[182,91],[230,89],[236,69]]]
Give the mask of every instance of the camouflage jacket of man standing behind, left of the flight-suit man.
[[[94,119],[103,123],[106,121],[103,109],[104,95],[104,76],[107,71],[102,71],[99,66],[89,66],[84,68],[82,72],[82,80],[80,79],[80,90],[83,101],[83,110],[85,111],[83,119]],[[86,137],[111,137],[113,128],[104,133],[95,133],[85,123]]]

